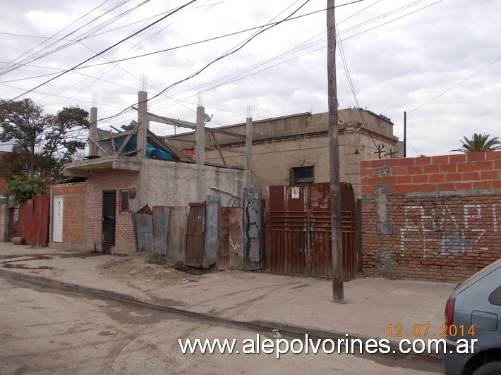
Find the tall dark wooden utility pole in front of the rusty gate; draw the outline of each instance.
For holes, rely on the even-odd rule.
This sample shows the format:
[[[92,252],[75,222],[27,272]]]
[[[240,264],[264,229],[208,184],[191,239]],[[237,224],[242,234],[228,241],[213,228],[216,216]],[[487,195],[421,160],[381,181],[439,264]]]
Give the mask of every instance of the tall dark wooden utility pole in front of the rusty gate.
[[[329,97],[330,148],[330,220],[332,295],[334,302],[344,303],[343,248],[341,234],[341,199],[339,196],[339,128],[336,82],[336,20],[334,0],[327,0],[327,94]]]

